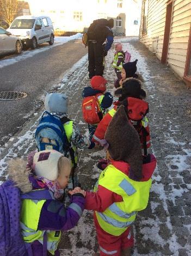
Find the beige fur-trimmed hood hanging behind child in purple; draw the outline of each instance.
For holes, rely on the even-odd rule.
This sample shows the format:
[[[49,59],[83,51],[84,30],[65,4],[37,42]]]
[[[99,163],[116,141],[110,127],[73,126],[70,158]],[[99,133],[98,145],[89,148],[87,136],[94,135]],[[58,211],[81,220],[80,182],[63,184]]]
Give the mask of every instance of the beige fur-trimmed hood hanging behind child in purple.
[[[26,161],[23,159],[14,159],[9,162],[9,179],[15,182],[23,193],[32,191],[33,187],[29,181],[30,169],[26,168]]]

